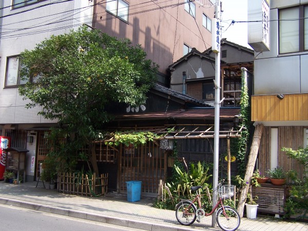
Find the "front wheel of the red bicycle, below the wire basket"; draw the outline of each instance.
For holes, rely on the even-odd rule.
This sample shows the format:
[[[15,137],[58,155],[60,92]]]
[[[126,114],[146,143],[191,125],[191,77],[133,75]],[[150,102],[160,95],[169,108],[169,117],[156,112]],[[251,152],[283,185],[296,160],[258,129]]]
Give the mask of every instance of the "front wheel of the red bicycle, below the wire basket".
[[[236,230],[241,223],[241,218],[238,212],[231,207],[224,207],[227,217],[223,213],[222,207],[217,211],[217,224],[222,230],[225,231],[234,231]]]

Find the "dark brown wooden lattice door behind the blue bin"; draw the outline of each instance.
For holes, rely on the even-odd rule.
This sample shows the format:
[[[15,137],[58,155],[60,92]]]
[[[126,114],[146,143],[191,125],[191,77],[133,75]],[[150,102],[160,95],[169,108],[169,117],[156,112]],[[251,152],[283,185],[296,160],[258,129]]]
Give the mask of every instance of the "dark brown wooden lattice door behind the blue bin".
[[[126,191],[127,181],[142,181],[142,194],[157,195],[159,181],[164,180],[166,171],[165,151],[159,144],[147,142],[138,147],[123,146],[121,153],[120,191]]]

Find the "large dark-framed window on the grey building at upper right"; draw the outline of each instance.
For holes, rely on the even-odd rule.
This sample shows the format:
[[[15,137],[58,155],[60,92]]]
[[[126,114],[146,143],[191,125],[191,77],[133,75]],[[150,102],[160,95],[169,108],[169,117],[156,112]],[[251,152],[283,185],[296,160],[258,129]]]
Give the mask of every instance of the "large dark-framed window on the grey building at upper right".
[[[308,50],[308,6],[279,11],[279,53]],[[299,20],[299,18],[305,18]]]

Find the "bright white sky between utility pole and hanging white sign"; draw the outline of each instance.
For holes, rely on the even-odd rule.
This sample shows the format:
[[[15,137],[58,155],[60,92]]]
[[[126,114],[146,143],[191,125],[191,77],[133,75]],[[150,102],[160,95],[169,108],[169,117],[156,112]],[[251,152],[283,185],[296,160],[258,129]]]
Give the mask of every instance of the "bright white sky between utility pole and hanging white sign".
[[[248,0],[249,1],[249,0]],[[247,21],[247,0],[222,0],[222,38],[252,49],[247,44],[247,23],[232,23]]]

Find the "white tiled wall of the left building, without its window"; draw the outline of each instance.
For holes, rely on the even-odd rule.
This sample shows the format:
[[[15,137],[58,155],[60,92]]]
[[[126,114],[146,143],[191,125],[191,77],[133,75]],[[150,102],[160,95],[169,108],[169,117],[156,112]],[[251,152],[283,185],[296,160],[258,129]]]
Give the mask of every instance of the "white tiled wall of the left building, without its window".
[[[51,35],[69,32],[82,24],[92,25],[93,0],[46,0],[16,9],[12,9],[12,2],[0,3],[0,15],[3,15],[0,19],[0,124],[7,129],[11,124],[18,124],[18,129],[48,126],[51,121],[37,115],[40,107],[26,109],[27,101],[18,89],[5,88],[7,57],[31,50]],[[34,176],[31,161],[36,155],[36,139],[34,135],[33,143],[27,143],[26,147],[29,150],[25,163],[27,176]]]

